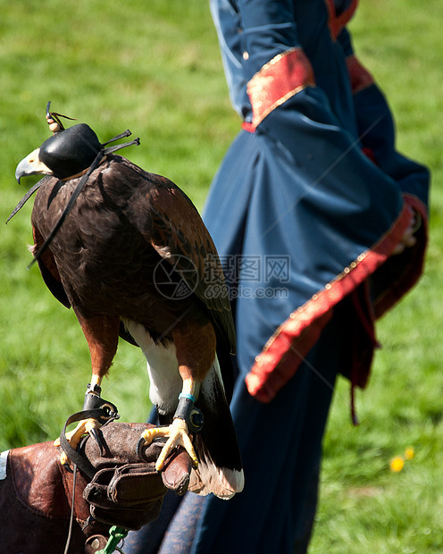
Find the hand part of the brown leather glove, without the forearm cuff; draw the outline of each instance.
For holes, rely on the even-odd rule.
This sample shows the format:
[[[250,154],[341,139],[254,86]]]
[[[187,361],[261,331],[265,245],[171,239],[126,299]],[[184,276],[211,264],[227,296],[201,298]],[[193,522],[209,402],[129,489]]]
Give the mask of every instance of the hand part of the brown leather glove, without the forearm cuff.
[[[91,516],[107,525],[139,529],[160,513],[166,488],[183,494],[188,488],[190,461],[184,450],[174,454],[162,474],[155,471],[155,460],[163,443],[143,447],[137,443],[146,424],[108,424],[98,430],[104,454],[90,437],[85,456],[96,468],[96,475],[83,491]]]

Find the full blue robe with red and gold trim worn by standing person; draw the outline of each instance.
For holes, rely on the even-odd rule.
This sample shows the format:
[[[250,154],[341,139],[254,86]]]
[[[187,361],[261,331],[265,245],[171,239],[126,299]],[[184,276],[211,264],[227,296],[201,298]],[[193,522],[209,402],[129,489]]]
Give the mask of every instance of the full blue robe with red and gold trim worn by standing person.
[[[389,106],[347,32],[355,5],[211,3],[244,122],[204,219],[237,328],[231,411],[245,490],[229,501],[188,493],[178,509],[167,499],[131,552],[157,551],[168,524],[168,554],[305,552],[336,375],[364,387],[376,318],[422,272],[429,174],[396,151]],[[416,245],[391,256],[413,213]]]

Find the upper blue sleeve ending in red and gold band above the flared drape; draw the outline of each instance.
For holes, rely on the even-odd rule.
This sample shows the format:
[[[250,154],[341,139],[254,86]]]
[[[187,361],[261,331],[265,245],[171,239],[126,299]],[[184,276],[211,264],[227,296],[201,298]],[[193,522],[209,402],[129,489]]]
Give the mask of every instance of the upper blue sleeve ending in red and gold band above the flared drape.
[[[288,0],[212,0],[230,99],[252,128],[288,97],[314,85]]]

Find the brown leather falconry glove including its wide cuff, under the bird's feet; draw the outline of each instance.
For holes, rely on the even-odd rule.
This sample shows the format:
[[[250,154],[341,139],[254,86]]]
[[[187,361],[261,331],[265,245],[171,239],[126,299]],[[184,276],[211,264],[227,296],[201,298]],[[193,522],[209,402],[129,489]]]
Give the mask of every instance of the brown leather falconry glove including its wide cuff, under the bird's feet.
[[[43,442],[0,457],[0,551],[61,554],[70,530],[69,552],[103,549],[111,525],[138,529],[153,521],[166,487],[187,490],[191,462],[178,450],[162,474],[155,459],[162,444],[138,453],[141,432],[149,424],[110,423],[98,430],[104,451],[88,437],[79,447],[96,470],[93,479],[60,464],[60,448]],[[92,518],[89,516],[92,515]]]

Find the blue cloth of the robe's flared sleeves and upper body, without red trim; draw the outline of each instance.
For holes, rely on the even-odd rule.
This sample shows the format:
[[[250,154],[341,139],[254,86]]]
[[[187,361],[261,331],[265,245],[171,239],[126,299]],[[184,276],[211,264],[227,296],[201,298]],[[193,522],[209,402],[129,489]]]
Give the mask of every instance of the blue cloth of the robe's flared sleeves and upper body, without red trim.
[[[372,85],[353,97],[345,63],[350,39],[343,33],[342,45],[331,38],[324,1],[221,0],[212,6],[223,59],[231,60],[225,68],[236,83],[230,93],[239,113],[251,111],[243,94],[246,80],[283,48],[303,46],[317,83],[270,113],[255,134],[240,131],[205,206],[222,261],[241,253],[266,264],[270,253],[282,260],[290,254],[287,282],[265,271],[259,279],[234,275],[239,290],[248,291],[236,300],[238,365],[245,374],[280,323],[389,230],[404,205],[403,192],[427,203],[429,175],[395,150],[380,89]],[[247,29],[233,32],[241,22]],[[238,36],[245,35],[239,44]],[[259,54],[245,61],[248,47]],[[363,146],[372,148],[378,165]],[[288,290],[288,297],[257,294],[275,288]]]

